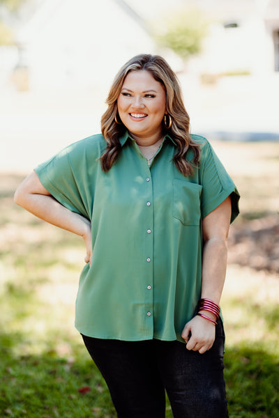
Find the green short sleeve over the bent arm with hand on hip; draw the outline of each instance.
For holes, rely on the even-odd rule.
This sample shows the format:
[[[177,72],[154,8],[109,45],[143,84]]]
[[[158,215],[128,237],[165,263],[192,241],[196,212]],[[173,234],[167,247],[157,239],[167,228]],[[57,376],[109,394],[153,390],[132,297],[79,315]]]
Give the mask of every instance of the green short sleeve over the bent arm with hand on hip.
[[[61,205],[89,219],[89,208],[86,208],[84,191],[78,184],[75,170],[70,163],[70,153],[75,153],[75,144],[40,164],[35,171],[43,186]],[[81,161],[80,178],[82,178],[82,167]]]

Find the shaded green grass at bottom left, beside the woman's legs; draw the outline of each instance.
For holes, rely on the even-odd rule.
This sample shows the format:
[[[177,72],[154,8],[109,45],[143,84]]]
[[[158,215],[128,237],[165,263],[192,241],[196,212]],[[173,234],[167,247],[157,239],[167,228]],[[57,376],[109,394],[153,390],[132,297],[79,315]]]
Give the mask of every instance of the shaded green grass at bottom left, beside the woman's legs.
[[[0,334],[1,417],[116,417],[103,378],[84,347],[73,344],[73,355],[63,357],[52,345],[39,355],[26,354],[26,349],[20,355],[20,346],[26,345],[20,332]]]

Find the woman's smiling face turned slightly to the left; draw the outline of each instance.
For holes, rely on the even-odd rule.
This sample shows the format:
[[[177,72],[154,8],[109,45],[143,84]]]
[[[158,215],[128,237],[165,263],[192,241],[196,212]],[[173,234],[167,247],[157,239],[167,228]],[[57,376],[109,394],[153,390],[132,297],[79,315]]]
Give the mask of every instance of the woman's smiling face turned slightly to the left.
[[[149,71],[128,73],[117,106],[121,121],[135,139],[159,139],[166,113],[165,88]]]

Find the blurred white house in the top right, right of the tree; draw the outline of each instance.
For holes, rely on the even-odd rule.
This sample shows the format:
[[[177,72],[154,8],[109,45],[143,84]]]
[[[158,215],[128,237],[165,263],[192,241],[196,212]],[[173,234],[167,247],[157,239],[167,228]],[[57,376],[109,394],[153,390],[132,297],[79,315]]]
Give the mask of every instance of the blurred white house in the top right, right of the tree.
[[[197,0],[211,18],[204,72],[279,72],[278,0]]]

